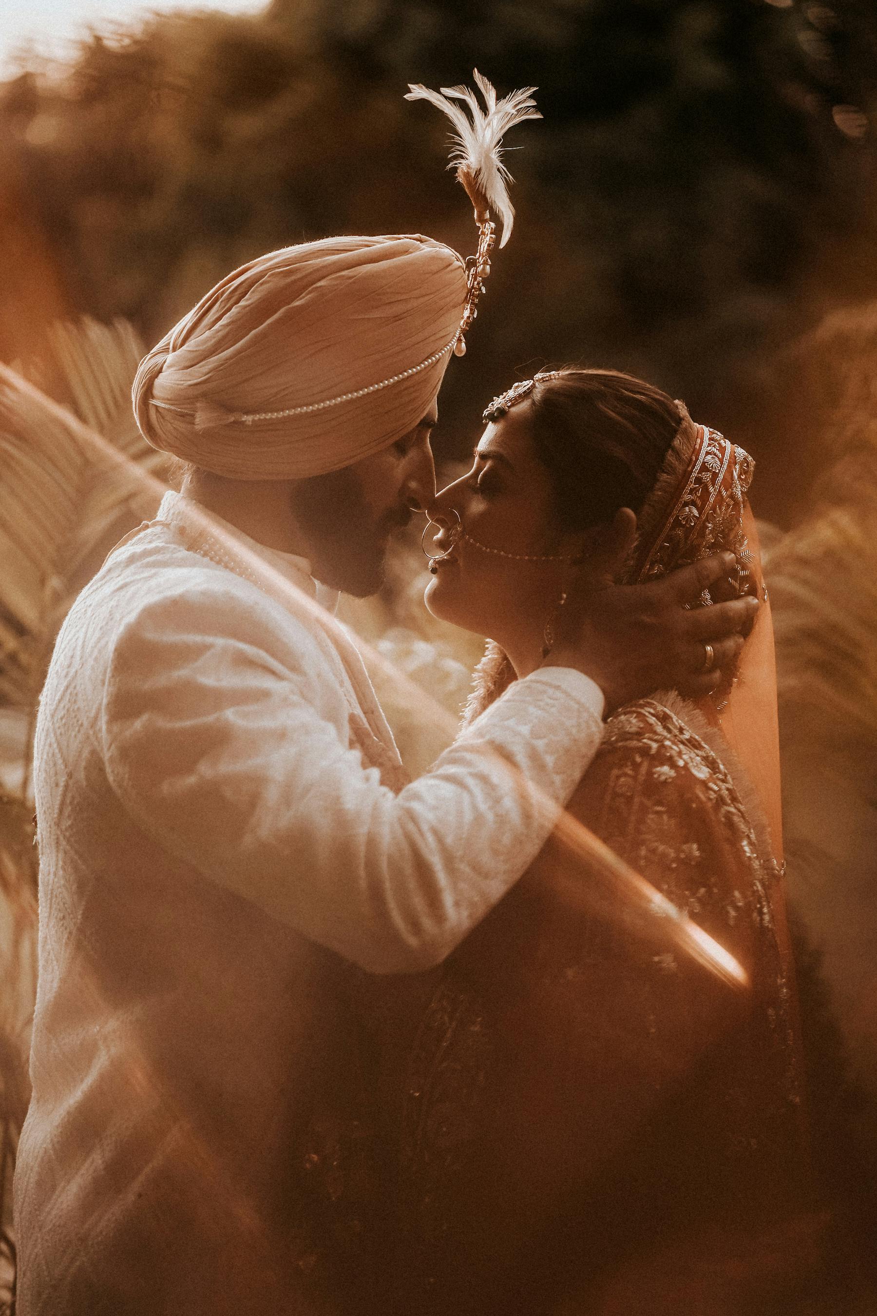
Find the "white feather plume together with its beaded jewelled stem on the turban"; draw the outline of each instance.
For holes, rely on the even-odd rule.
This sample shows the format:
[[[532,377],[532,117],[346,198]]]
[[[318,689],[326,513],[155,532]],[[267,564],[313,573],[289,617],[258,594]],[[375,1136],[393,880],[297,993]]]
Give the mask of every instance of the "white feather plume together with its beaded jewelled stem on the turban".
[[[479,226],[479,246],[473,257],[467,257],[467,295],[463,318],[454,341],[454,353],[462,357],[465,351],[465,334],[477,316],[479,297],[484,292],[484,280],[490,272],[490,253],[496,246],[496,224],[490,212],[502,221],[504,247],[511,236],[514,207],[509,200],[508,184],[511,175],[502,163],[502,137],[515,124],[527,118],[542,118],[533,100],[535,87],[513,91],[497,101],[496,89],[473,70],[475,83],[481,92],[484,109],[477,96],[468,87],[442,87],[440,92],[430,91],[419,83],[409,83],[406,100],[429,100],[431,105],[454,124],[451,134],[454,150],[450,168],[456,170],[458,182],[465,188],[475,208],[475,222]],[[458,104],[458,101],[460,104]],[[467,113],[468,111],[468,113]]]

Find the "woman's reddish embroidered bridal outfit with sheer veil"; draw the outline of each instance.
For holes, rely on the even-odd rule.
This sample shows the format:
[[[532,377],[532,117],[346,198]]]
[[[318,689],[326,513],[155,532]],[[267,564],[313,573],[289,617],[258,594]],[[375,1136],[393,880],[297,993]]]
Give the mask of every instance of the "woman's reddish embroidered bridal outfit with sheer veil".
[[[690,425],[640,516],[631,578],[730,546],[740,587],[764,594],[751,472]],[[358,978],[376,1309],[786,1311],[813,1216],[764,597],[736,683],[698,707],[619,709],[569,805],[738,959],[748,991],[631,926],[556,838],[439,970]]]

